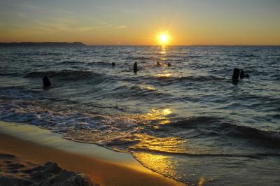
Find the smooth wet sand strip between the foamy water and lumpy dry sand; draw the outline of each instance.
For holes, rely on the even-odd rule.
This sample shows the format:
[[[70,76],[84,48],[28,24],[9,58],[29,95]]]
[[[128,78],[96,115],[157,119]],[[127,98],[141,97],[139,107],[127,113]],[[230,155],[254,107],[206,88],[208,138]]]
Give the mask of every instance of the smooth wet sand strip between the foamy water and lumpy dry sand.
[[[20,159],[56,162],[63,169],[87,174],[100,185],[185,185],[147,169],[130,154],[60,136],[36,126],[0,121],[1,152]]]

